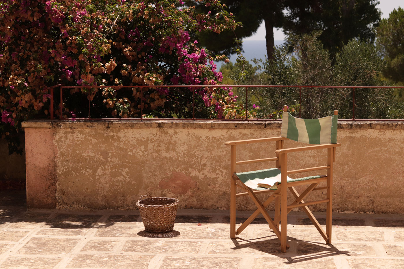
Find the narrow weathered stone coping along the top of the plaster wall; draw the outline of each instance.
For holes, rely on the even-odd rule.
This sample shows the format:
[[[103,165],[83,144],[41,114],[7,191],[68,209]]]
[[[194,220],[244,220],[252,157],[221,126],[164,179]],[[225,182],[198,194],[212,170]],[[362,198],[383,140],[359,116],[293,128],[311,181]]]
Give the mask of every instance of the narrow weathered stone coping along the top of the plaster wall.
[[[193,128],[193,129],[280,129],[281,122],[246,122],[246,121],[180,121],[180,120],[27,120],[22,122],[23,128]],[[339,129],[404,129],[404,122],[338,122]]]

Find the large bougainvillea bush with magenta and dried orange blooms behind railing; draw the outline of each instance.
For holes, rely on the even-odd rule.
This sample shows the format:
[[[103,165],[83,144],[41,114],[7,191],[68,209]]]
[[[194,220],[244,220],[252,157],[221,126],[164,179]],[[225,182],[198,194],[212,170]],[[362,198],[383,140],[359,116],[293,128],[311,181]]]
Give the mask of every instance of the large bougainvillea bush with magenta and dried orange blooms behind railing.
[[[202,1],[201,1],[202,2]],[[50,86],[219,85],[214,58],[190,36],[233,30],[238,23],[217,0],[206,14],[181,0],[3,0],[0,2],[0,135],[23,120],[49,117]],[[225,60],[225,56],[217,56]],[[55,117],[59,95],[55,91]],[[64,118],[223,117],[236,101],[229,88],[71,88]],[[143,97],[143,107],[141,107]],[[86,114],[87,113],[87,114]]]

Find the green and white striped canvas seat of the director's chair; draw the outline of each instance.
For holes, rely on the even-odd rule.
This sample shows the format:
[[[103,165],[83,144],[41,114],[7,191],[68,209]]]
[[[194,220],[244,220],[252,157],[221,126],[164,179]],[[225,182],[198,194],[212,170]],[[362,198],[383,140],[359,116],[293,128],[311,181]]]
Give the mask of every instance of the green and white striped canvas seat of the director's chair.
[[[277,179],[278,183],[281,181],[281,172],[278,168],[269,168],[263,170],[256,170],[256,171],[248,171],[248,172],[240,172],[236,173],[236,176],[240,179],[242,183],[244,183],[247,187],[255,190],[265,190],[267,188],[257,186],[258,183],[263,181],[265,178],[270,179]],[[311,177],[301,177],[298,179],[291,179],[290,177],[287,178],[287,183],[295,182],[295,181],[302,181],[307,179],[318,179],[320,177],[326,177],[327,175],[318,175],[318,176],[311,176]],[[276,190],[278,187],[274,185],[270,189]]]

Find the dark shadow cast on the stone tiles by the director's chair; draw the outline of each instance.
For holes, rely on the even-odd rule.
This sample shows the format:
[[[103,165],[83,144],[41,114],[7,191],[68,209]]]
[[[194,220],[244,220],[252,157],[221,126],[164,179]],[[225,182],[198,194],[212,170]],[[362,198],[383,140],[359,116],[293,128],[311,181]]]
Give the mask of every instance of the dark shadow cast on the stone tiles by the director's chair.
[[[290,244],[290,248],[288,249],[288,252],[282,253],[280,252],[280,241],[275,234],[252,239],[236,237],[235,239],[232,239],[232,241],[234,243],[234,248],[232,249],[234,250],[251,248],[265,254],[285,258],[287,260],[285,264],[298,263],[301,261],[309,261],[341,254],[351,256],[349,251],[339,250],[332,244],[297,240],[290,236],[288,236],[288,244]]]

